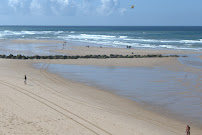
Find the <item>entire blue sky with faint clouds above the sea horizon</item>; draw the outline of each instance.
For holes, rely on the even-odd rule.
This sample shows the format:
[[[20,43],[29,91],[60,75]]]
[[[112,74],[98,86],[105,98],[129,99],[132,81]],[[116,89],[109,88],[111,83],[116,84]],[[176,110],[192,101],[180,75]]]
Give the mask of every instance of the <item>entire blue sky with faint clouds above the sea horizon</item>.
[[[202,26],[202,0],[0,0],[0,25]]]

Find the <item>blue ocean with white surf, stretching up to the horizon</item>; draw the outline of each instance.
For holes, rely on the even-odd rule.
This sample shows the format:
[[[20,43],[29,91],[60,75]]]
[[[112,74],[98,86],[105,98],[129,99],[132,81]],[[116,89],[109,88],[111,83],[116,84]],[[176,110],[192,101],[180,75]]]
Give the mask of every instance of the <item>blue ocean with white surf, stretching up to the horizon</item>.
[[[202,27],[0,26],[0,39],[47,39],[118,48],[201,51]]]

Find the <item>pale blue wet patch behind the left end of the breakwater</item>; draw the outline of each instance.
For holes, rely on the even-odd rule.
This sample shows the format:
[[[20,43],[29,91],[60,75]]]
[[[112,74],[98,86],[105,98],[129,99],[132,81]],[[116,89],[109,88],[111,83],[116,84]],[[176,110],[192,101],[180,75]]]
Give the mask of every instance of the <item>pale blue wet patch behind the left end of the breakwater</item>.
[[[0,54],[57,55],[50,50],[62,49],[63,41],[55,40],[2,40]]]

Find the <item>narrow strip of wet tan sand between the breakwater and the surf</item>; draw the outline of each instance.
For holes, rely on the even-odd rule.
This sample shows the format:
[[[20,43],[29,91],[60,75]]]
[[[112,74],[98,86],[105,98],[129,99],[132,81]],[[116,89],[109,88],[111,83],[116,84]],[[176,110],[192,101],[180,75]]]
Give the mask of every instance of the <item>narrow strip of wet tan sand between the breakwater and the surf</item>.
[[[110,55],[110,54],[121,54],[121,55],[131,55],[133,52],[135,55],[147,55],[147,54],[201,54],[201,51],[195,50],[177,50],[177,49],[141,49],[141,48],[123,48],[123,47],[112,47],[112,46],[102,46],[92,43],[82,43],[64,40],[48,40],[48,39],[6,39],[0,40],[1,43],[10,43],[11,45],[39,45],[36,48],[44,49],[47,47],[58,47],[55,50],[49,50],[50,52],[65,54],[65,55]],[[50,44],[50,46],[48,46]],[[54,45],[54,46],[52,46]],[[64,46],[63,46],[64,45]],[[91,45],[91,46],[89,46]],[[87,47],[89,46],[89,47]],[[102,48],[100,48],[102,46]],[[97,50],[99,49],[99,51]],[[119,53],[121,52],[121,53]]]

